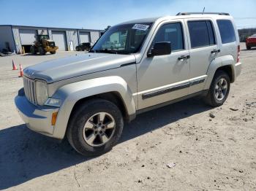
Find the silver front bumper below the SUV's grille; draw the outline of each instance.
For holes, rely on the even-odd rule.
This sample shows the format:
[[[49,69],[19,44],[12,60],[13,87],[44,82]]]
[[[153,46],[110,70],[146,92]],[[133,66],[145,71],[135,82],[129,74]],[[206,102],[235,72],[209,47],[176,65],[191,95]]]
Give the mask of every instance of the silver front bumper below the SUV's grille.
[[[24,95],[17,95],[15,97],[15,106],[22,120],[26,126],[44,134],[45,136],[53,136],[54,126],[51,125],[51,118],[53,112],[58,112],[59,108],[50,106],[34,106]]]

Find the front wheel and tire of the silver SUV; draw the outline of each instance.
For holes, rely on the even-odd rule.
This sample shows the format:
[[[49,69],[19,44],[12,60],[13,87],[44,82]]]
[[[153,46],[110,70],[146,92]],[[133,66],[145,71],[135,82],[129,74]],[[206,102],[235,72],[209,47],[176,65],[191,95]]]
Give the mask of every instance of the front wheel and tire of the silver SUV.
[[[99,117],[104,114],[105,117]],[[99,120],[100,118],[103,120]],[[102,155],[116,145],[123,127],[121,111],[115,104],[103,99],[94,99],[72,112],[67,127],[67,139],[82,155]]]

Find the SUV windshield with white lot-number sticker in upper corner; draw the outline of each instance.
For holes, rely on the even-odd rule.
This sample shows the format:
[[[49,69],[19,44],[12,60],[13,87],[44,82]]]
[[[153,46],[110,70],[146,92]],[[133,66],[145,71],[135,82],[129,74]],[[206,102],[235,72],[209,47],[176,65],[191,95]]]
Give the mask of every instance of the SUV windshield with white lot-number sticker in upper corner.
[[[90,52],[131,54],[138,52],[146,39],[151,23],[113,26],[100,37]]]

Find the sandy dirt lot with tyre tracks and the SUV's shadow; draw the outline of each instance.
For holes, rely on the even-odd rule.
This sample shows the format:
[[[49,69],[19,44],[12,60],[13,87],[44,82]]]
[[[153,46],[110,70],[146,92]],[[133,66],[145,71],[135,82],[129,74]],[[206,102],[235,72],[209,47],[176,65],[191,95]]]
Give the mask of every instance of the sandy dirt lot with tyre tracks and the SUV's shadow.
[[[26,67],[76,52],[0,58],[0,190],[256,190],[256,50],[241,49],[223,106],[189,99],[140,114],[93,158],[28,130],[13,103],[22,79],[12,59]]]

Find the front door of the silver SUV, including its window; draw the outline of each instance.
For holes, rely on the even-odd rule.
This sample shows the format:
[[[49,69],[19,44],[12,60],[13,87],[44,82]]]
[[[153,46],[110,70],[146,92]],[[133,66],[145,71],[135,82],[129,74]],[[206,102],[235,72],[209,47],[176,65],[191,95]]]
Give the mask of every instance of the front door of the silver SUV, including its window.
[[[189,50],[183,21],[162,23],[151,42],[170,42],[170,55],[145,57],[137,64],[138,109],[161,104],[189,92]]]

